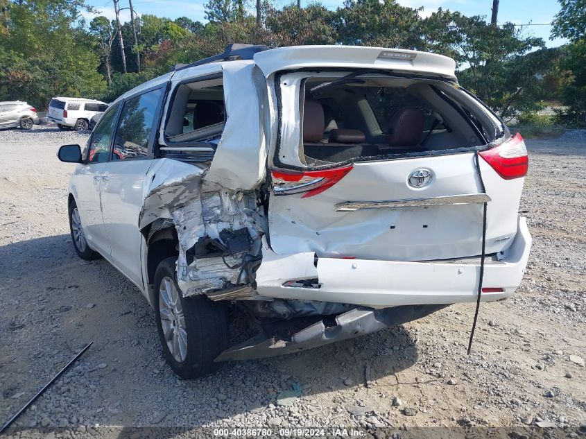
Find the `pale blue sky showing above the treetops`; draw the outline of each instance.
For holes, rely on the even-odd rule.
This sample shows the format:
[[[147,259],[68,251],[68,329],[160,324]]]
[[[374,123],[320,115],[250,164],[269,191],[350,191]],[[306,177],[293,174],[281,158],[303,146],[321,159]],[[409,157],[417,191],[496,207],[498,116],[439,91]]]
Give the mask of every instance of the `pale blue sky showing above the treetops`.
[[[302,6],[309,3],[310,0],[302,0]],[[490,20],[492,0],[397,0],[403,6],[410,8],[419,8],[423,6],[420,15],[423,17],[430,15],[431,12],[438,8],[457,10],[464,15],[485,15]],[[112,19],[114,18],[114,7],[112,0],[88,0],[91,6],[101,11],[101,15]],[[192,20],[205,22],[204,5],[207,0],[132,0],[137,14],[153,14],[159,17],[189,17]],[[286,6],[291,0],[273,0],[278,6]],[[343,0],[322,0],[321,3],[328,9],[335,10],[338,6],[343,5]],[[121,7],[128,6],[126,0],[120,1]],[[551,32],[551,21],[553,16],[560,10],[560,5],[556,0],[500,0],[499,3],[499,23],[511,21],[515,24],[531,24],[524,26],[524,35],[542,37],[548,47],[556,47],[567,42],[564,39],[556,38],[549,40]],[[86,18],[91,18],[86,15]],[[128,10],[121,12],[123,21],[130,20]],[[545,26],[543,26],[545,24]]]

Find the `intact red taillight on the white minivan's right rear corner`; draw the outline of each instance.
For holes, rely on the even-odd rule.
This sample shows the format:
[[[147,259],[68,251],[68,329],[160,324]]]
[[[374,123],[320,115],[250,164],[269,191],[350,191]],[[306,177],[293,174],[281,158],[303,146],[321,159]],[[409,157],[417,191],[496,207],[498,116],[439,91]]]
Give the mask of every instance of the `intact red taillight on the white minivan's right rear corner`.
[[[527,175],[529,157],[525,142],[518,132],[499,146],[481,151],[479,155],[505,180]]]

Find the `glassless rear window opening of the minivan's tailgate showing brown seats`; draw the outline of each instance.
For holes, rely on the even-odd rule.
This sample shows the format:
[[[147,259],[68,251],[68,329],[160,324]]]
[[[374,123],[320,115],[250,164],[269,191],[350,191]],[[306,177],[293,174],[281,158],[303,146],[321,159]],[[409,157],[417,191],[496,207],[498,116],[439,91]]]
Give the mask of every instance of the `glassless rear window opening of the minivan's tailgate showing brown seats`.
[[[503,131],[490,110],[443,80],[314,76],[300,81],[299,107],[298,157],[279,159],[304,167],[479,148]]]

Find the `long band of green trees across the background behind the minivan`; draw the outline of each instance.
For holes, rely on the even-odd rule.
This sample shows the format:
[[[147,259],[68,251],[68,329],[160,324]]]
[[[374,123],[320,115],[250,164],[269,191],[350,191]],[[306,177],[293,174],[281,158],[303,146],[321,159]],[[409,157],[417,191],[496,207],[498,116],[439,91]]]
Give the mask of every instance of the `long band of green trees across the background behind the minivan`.
[[[220,53],[232,42],[353,44],[448,55],[460,83],[506,120],[528,120],[543,101],[562,101],[569,109],[556,123],[586,125],[586,0],[560,0],[553,35],[571,40],[562,49],[545,49],[543,40],[510,23],[491,26],[485,17],[441,8],[422,18],[420,9],[396,0],[345,0],[336,10],[271,1],[261,1],[259,24],[250,0],[207,0],[206,24],[141,15],[137,44],[131,24],[122,24],[132,73],[121,74],[116,24],[105,17],[85,23],[83,12],[92,11],[85,0],[0,0],[0,99],[40,107],[57,95],[112,101],[173,64]]]

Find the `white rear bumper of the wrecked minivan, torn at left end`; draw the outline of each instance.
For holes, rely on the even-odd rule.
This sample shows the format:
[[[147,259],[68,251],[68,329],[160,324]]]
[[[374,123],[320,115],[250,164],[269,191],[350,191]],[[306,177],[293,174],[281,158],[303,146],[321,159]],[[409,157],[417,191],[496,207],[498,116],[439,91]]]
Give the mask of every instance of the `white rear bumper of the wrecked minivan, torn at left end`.
[[[519,217],[517,234],[500,261],[485,261],[483,302],[508,298],[521,283],[531,250],[531,234]],[[276,255],[263,247],[257,291],[266,297],[319,300],[385,308],[417,304],[475,302],[479,258],[460,261],[370,261],[320,258],[313,252]],[[283,286],[290,280],[318,279],[320,287]]]

